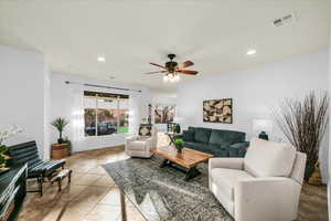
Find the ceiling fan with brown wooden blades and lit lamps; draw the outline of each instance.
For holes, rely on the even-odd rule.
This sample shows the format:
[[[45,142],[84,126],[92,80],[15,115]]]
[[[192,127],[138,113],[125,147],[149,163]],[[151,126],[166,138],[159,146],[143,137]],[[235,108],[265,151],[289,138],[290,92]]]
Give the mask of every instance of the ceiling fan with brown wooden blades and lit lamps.
[[[166,62],[164,66],[156,63],[150,63],[151,65],[161,67],[162,70],[157,72],[148,72],[145,74],[159,74],[159,73],[166,73],[163,76],[164,82],[178,82],[180,80],[179,74],[189,74],[189,75],[196,75],[199,72],[191,71],[191,70],[184,70],[185,67],[194,65],[191,61],[185,61],[183,63],[177,63],[173,61],[175,57],[175,54],[168,54],[168,57],[170,59],[169,62]]]

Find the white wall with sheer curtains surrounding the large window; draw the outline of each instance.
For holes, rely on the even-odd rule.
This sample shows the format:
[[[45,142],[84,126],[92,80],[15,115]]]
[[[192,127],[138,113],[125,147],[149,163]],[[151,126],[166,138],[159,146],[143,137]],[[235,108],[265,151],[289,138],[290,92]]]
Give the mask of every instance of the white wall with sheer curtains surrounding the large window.
[[[77,86],[74,84],[65,84],[65,81],[141,90],[142,92],[141,93],[124,92],[124,91],[98,88],[98,87]],[[136,133],[136,129],[138,129],[138,125],[141,123],[141,118],[147,117],[148,115],[148,104],[150,104],[151,102],[151,95],[147,88],[137,87],[132,85],[115,84],[107,81],[90,80],[90,78],[73,76],[68,74],[51,74],[51,101],[52,101],[51,116],[52,119],[61,116],[70,120],[71,125],[64,133],[64,136],[68,136],[70,139],[75,139],[76,131],[73,128],[75,127],[74,124],[76,124],[77,122],[75,119],[76,116],[75,113],[78,112],[82,114],[83,112],[84,106],[82,103],[83,103],[84,90],[129,95],[130,96],[130,118],[129,118],[130,133]],[[77,97],[79,99],[78,102],[77,102]],[[78,143],[75,143],[76,145],[74,144],[73,151],[82,151],[82,150],[88,150],[95,148],[124,145],[126,136],[127,134],[114,134],[114,135],[98,136],[98,137],[85,137],[84,135],[82,135],[82,137],[79,138],[81,140]],[[51,141],[56,143],[57,137],[58,137],[57,131],[54,128],[51,128]]]

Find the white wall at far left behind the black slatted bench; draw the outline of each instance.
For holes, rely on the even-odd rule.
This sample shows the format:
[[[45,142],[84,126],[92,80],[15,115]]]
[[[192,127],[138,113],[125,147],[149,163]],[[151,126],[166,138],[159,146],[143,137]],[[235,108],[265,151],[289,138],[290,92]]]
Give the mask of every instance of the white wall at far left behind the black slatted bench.
[[[43,54],[0,45],[0,129],[20,126],[23,133],[8,145],[36,140],[41,157],[50,147],[45,136],[47,77]]]

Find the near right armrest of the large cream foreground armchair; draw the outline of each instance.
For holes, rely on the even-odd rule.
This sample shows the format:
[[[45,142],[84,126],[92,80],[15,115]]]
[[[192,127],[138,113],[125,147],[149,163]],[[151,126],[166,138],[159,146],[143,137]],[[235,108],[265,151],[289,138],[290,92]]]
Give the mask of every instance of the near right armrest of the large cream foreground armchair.
[[[235,185],[235,220],[295,220],[301,186],[285,177],[252,178]]]

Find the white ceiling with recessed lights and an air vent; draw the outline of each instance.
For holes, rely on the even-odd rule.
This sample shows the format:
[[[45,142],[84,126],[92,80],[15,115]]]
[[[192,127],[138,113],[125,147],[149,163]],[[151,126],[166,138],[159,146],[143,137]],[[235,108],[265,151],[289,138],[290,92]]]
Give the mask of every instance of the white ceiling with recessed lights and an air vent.
[[[271,25],[292,12],[297,22]],[[330,25],[329,0],[0,0],[0,43],[45,53],[54,72],[160,92],[175,84],[142,73],[168,53],[195,63],[190,81],[325,48]]]

